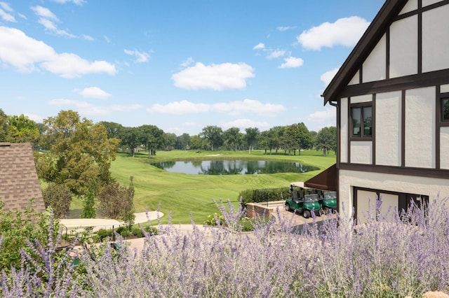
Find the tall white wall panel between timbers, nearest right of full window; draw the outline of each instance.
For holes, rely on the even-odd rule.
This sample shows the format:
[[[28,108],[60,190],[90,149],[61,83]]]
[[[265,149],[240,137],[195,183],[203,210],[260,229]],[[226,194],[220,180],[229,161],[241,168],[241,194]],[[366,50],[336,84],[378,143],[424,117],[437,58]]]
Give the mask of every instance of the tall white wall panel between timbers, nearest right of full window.
[[[401,166],[401,92],[376,95],[376,164]]]

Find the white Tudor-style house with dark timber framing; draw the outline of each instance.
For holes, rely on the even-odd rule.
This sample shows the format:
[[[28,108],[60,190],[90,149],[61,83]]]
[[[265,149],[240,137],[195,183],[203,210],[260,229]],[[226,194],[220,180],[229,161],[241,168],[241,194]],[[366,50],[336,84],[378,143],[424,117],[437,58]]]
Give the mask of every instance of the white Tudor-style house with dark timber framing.
[[[323,92],[340,213],[449,196],[449,0],[387,0]]]

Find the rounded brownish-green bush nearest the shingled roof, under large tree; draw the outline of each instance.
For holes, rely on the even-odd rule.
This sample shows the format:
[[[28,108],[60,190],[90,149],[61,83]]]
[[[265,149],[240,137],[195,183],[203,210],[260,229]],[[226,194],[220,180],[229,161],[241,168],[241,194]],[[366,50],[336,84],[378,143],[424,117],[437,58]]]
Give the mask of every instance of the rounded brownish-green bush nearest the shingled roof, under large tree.
[[[67,218],[72,202],[72,192],[67,185],[50,183],[42,196],[45,207],[51,207],[56,218]]]

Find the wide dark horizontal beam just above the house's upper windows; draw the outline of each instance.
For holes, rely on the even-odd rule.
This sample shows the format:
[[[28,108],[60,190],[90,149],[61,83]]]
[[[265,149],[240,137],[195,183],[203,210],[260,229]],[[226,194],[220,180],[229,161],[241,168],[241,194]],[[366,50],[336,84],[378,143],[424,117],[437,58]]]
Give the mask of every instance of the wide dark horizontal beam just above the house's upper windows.
[[[419,73],[400,78],[378,80],[359,85],[350,85],[343,88],[342,97],[354,97],[363,94],[383,93],[398,90],[415,89],[435,85],[449,84],[449,69]]]

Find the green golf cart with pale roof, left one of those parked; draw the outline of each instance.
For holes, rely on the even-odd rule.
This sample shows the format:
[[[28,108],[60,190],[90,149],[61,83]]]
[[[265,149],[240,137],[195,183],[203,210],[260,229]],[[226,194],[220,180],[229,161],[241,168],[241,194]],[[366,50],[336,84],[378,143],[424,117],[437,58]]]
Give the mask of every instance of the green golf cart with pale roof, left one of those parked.
[[[286,199],[286,211],[295,211],[304,218],[310,218],[311,213],[321,215],[321,205],[319,203],[319,190],[305,187],[304,182],[294,182],[290,184],[290,198]]]

